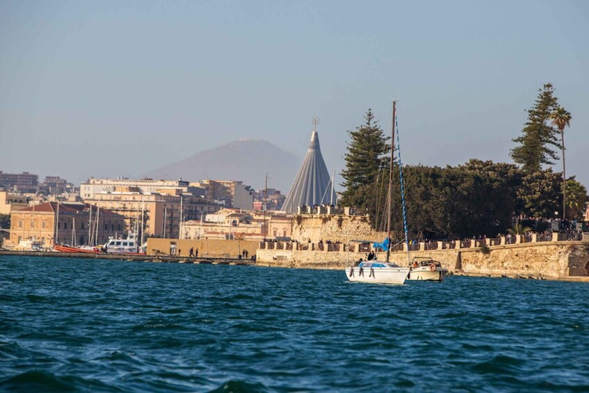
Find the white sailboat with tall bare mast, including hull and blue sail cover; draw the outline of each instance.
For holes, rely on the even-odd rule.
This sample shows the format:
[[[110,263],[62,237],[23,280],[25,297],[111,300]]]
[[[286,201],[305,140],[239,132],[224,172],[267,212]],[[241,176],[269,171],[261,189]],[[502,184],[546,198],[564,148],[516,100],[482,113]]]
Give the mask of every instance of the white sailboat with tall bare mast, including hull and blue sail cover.
[[[393,126],[391,140],[391,164],[389,166],[389,192],[387,203],[387,239],[382,243],[375,243],[387,250],[387,259],[379,261],[372,259],[368,261],[356,262],[354,266],[346,267],[346,277],[352,282],[371,282],[374,284],[404,284],[409,275],[410,268],[402,267],[389,262],[390,239],[391,239],[391,215],[392,215],[392,181],[393,181],[393,161],[394,161],[394,138],[395,138],[395,118],[396,118],[396,101],[393,101]]]

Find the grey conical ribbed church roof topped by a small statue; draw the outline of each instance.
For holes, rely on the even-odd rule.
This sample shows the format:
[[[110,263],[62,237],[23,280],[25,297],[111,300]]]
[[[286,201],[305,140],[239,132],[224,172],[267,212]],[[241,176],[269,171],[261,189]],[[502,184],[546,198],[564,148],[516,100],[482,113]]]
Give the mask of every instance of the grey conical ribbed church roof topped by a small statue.
[[[309,150],[302,160],[291,191],[282,204],[282,210],[295,213],[299,206],[329,204],[332,201],[335,202],[335,191],[332,195],[331,178],[321,155],[319,137],[317,131],[313,131]]]

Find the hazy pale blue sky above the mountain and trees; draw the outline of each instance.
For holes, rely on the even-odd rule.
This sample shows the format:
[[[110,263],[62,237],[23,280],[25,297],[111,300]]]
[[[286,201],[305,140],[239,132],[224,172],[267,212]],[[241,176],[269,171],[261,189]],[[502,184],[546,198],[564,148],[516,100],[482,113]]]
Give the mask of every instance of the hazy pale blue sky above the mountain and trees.
[[[302,159],[317,115],[339,173],[346,130],[371,108],[388,131],[393,97],[404,163],[511,162],[550,82],[589,186],[588,73],[582,0],[5,0],[0,170],[136,177],[244,137]]]

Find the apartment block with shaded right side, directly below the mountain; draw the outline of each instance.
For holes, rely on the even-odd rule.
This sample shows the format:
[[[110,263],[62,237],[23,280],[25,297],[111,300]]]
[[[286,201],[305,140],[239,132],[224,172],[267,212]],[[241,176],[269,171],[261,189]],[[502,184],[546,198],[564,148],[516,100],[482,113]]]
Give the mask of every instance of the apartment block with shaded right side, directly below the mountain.
[[[254,190],[243,182],[207,179],[190,185],[204,189],[206,198],[225,202],[225,207],[251,210],[254,204]]]

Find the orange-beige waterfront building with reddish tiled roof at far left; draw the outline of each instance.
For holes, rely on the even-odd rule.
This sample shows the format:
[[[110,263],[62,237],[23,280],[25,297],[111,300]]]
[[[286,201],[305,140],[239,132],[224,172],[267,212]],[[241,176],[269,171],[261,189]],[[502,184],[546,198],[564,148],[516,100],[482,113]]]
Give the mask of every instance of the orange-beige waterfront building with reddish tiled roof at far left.
[[[10,241],[39,243],[51,248],[55,243],[72,246],[104,244],[111,236],[124,234],[124,218],[107,209],[81,203],[46,202],[10,214]]]

